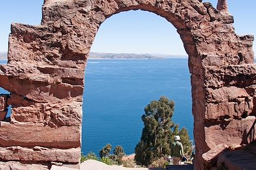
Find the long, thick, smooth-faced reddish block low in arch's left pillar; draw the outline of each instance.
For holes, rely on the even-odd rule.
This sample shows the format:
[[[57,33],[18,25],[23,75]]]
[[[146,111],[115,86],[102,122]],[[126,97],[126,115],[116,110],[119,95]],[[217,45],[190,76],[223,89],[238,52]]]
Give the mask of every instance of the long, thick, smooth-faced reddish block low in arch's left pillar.
[[[0,122],[0,146],[42,146],[77,148],[81,146],[81,126],[49,127],[45,124]]]

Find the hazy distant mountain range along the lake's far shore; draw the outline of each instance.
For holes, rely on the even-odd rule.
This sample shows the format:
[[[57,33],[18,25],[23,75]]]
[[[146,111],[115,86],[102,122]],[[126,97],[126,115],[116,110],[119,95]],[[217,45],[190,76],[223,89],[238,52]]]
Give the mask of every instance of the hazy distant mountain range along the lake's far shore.
[[[138,54],[138,53],[96,53],[90,52],[89,59],[165,59],[188,58],[186,55]],[[7,52],[0,52],[0,60],[7,60]]]

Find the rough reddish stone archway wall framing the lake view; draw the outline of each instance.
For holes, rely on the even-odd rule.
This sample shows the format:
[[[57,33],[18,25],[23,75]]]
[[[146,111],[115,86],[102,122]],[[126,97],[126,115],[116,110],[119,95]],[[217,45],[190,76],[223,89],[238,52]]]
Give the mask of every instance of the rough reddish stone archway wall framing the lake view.
[[[93,39],[106,18],[139,9],[171,22],[189,55],[195,169],[216,166],[223,146],[255,141],[253,36],[236,35],[226,1],[217,10],[198,0],[45,0],[41,25],[12,24],[8,64],[0,72],[0,86],[11,92],[0,96],[0,108],[12,106],[0,125],[0,166],[13,160],[44,168],[79,164],[84,69]],[[212,150],[218,152],[207,153]]]

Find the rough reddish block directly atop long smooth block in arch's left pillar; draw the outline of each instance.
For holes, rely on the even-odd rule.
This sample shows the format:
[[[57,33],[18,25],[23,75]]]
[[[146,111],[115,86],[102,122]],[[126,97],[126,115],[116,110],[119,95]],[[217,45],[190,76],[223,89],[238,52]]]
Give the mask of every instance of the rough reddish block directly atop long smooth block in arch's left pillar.
[[[78,126],[82,122],[82,108],[81,106],[38,103],[13,108],[11,122],[43,123],[51,127]]]

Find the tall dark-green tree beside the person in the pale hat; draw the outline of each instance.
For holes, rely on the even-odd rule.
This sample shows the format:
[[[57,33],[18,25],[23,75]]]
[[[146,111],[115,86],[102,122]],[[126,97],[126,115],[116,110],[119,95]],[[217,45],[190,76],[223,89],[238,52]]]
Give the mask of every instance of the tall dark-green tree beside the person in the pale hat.
[[[162,96],[158,101],[152,101],[144,109],[141,117],[144,128],[141,139],[135,148],[135,160],[137,164],[149,166],[154,160],[164,155],[170,155],[170,144],[174,135],[180,135],[184,148],[189,141],[188,131],[172,121],[174,113],[174,101]],[[186,150],[185,150],[186,152]]]

